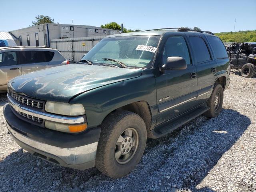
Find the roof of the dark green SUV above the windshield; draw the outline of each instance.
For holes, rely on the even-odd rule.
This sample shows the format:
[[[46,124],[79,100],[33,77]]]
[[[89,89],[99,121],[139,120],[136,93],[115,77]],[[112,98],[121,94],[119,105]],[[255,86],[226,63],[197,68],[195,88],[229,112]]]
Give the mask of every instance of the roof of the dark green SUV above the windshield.
[[[140,32],[131,32],[131,33],[121,33],[121,34],[114,34],[110,36],[106,36],[105,38],[110,37],[120,37],[120,36],[132,36],[132,35],[157,35],[162,36],[165,33],[183,33],[184,31],[177,31],[177,30],[152,30],[152,31],[140,31]],[[194,33],[194,34],[202,34],[202,32],[195,32],[195,31],[187,31],[186,33]],[[210,35],[208,33],[204,33],[206,35]]]

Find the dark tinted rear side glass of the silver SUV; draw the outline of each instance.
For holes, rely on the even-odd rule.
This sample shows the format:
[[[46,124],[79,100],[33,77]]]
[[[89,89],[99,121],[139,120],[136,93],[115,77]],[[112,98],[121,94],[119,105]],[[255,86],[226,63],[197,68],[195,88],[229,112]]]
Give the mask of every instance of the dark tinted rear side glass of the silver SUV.
[[[50,62],[53,56],[51,51],[20,51],[20,64]]]

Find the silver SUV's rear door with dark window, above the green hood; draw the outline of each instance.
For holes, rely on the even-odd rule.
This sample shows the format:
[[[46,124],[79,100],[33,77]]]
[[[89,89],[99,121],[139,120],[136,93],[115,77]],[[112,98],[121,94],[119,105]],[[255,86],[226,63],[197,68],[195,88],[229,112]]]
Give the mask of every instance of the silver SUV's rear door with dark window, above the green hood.
[[[22,74],[30,73],[49,67],[43,51],[25,50],[19,52]]]

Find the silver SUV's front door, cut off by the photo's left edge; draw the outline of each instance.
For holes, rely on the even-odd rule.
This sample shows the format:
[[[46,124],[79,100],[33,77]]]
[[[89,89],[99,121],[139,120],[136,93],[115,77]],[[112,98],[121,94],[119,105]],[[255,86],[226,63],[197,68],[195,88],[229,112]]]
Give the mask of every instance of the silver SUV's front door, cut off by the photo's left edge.
[[[0,90],[7,90],[7,83],[12,78],[21,75],[17,52],[0,52]]]

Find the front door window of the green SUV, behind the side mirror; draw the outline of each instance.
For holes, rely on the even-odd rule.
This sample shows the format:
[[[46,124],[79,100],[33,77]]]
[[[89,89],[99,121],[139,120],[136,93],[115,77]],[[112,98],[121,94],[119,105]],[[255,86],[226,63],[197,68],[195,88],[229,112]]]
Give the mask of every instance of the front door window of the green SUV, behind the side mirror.
[[[166,41],[163,53],[163,62],[165,63],[168,57],[183,57],[186,64],[191,64],[188,47],[185,39],[182,36],[169,37]]]

